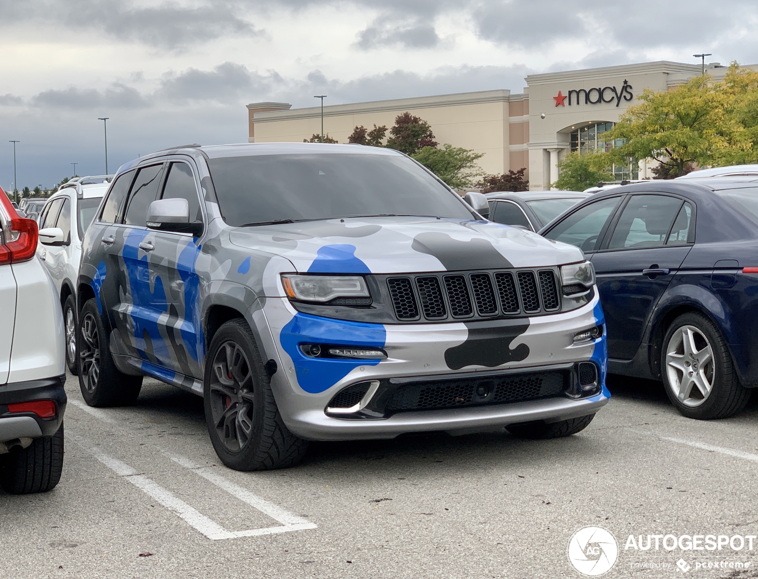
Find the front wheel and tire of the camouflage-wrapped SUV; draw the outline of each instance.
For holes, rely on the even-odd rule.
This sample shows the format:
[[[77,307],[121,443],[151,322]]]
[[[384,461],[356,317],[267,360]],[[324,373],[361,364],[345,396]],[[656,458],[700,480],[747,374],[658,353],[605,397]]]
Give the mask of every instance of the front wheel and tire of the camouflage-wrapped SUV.
[[[226,322],[211,341],[204,399],[211,444],[229,468],[287,468],[308,450],[308,442],[284,425],[258,344],[242,318]]]

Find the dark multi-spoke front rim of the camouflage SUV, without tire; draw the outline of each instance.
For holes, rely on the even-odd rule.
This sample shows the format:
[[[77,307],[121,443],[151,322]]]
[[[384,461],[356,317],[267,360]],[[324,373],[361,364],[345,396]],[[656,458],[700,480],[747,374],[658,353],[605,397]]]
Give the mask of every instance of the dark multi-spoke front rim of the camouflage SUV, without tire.
[[[252,369],[239,344],[226,341],[216,351],[211,372],[211,416],[221,443],[238,453],[253,431]]]

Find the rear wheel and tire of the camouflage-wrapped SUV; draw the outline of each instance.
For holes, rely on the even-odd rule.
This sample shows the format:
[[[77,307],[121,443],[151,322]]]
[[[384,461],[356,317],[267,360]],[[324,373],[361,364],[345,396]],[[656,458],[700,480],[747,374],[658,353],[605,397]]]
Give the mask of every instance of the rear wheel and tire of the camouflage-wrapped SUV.
[[[79,388],[89,406],[130,406],[136,402],[143,377],[126,375],[116,368],[94,297],[79,314],[77,352]]]

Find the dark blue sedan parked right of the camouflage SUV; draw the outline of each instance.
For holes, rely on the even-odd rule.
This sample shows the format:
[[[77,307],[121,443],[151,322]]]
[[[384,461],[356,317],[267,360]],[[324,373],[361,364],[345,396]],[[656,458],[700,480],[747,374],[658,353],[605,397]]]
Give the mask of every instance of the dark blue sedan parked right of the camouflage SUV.
[[[609,372],[662,380],[691,418],[745,406],[758,387],[758,179],[615,188],[540,233],[594,265]]]

